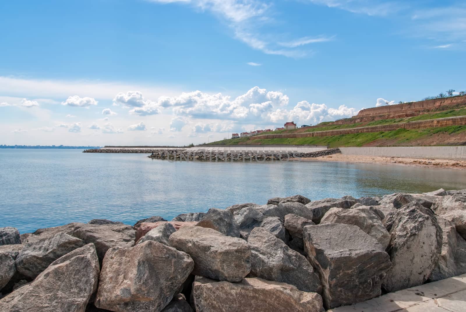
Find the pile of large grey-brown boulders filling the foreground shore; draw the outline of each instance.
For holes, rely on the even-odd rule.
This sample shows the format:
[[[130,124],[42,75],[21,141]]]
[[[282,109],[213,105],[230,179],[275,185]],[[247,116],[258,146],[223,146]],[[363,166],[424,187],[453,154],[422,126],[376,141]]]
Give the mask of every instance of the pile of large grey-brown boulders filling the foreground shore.
[[[0,229],[2,312],[320,312],[466,273],[466,190]],[[3,296],[3,298],[1,298]]]

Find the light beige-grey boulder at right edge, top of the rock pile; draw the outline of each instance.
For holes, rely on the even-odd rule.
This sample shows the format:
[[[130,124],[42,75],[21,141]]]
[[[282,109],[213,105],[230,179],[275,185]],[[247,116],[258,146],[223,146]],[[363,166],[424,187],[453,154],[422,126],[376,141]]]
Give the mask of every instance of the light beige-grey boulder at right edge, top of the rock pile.
[[[440,197],[431,209],[436,215],[452,222],[458,233],[466,239],[466,195],[453,194]]]

